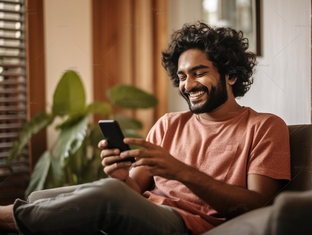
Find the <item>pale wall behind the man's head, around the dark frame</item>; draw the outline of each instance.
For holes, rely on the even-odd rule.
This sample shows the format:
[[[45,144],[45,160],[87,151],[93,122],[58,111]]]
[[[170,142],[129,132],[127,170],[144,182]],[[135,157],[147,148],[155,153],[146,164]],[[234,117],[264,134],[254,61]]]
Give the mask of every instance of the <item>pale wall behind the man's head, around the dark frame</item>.
[[[263,53],[255,81],[238,100],[288,125],[311,123],[311,0],[262,0]],[[169,0],[168,32],[201,19],[201,0]],[[188,107],[170,85],[169,112]]]

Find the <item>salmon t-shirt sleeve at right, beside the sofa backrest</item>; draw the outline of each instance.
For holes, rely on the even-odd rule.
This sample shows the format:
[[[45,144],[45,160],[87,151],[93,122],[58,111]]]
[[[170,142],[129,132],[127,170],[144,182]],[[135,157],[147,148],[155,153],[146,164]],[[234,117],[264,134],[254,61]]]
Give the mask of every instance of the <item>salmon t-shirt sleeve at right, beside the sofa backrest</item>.
[[[289,130],[281,118],[270,115],[255,129],[247,174],[291,179]]]

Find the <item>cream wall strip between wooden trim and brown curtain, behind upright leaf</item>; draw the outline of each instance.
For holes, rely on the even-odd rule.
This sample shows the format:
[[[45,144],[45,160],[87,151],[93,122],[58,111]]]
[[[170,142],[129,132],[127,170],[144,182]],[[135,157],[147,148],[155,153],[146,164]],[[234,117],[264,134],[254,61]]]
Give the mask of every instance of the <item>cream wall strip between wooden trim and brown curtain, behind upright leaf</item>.
[[[68,69],[77,71],[82,78],[87,103],[90,103],[93,86],[91,0],[44,0],[43,3],[47,110],[51,110],[55,87]],[[48,147],[55,138],[54,129],[48,128]]]

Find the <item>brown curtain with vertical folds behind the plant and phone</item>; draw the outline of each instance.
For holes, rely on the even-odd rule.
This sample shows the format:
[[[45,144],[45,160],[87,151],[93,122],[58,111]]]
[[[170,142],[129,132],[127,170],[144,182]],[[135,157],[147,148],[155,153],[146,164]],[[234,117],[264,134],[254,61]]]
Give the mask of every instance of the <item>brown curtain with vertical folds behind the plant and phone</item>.
[[[144,136],[167,111],[167,75],[160,61],[166,45],[166,0],[93,0],[94,100],[105,101],[115,84],[156,95],[155,109],[128,112],[144,123]]]

